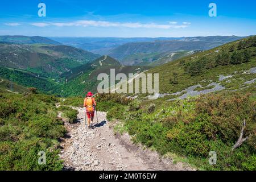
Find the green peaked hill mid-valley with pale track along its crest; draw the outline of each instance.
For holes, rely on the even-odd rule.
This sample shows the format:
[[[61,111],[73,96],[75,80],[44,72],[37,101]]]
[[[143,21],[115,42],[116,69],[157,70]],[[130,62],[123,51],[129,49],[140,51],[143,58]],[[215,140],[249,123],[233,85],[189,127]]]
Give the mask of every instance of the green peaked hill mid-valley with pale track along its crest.
[[[101,56],[90,64],[82,65],[72,69],[70,72],[61,75],[67,80],[61,89],[63,96],[84,96],[88,91],[97,92],[97,77],[100,73],[110,75],[110,69],[115,69],[115,75],[118,73],[140,73],[148,67],[124,66],[110,56]]]

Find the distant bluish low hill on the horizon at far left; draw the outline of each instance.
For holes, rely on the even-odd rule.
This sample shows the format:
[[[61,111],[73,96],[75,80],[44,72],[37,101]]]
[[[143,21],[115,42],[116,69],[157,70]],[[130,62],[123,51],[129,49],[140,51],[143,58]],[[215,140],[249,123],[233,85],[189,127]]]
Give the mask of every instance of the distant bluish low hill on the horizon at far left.
[[[0,43],[9,43],[9,44],[52,44],[60,45],[61,43],[54,40],[44,38],[42,36],[0,36]]]

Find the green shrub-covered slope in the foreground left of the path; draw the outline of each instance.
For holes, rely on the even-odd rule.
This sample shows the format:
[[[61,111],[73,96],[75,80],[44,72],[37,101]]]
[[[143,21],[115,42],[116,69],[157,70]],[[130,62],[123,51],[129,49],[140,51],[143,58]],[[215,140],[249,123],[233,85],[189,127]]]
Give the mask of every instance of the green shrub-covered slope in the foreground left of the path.
[[[65,129],[57,118],[57,98],[0,90],[0,170],[61,170],[58,139]],[[46,152],[46,165],[38,152]]]

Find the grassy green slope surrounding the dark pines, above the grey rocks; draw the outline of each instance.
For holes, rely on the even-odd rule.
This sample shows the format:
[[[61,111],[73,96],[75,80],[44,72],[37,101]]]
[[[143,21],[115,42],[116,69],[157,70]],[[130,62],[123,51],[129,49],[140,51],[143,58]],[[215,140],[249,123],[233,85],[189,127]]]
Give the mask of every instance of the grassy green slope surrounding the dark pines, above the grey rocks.
[[[200,83],[205,84],[205,82],[209,83],[210,80],[214,82],[218,80],[218,76],[233,75],[235,71],[240,73],[240,76],[244,77],[245,81],[252,80],[253,78],[255,78],[255,75],[251,75],[246,78],[246,76],[241,75],[241,72],[247,71],[248,69],[255,67],[256,47],[248,48],[250,49],[253,55],[249,63],[217,66],[212,69],[208,69],[208,71],[200,75],[191,76],[189,73],[185,72],[184,65],[181,65],[182,61],[185,61],[185,63],[189,63],[189,62],[200,60],[204,56],[207,56],[209,59],[216,59],[216,56],[218,55],[217,51],[221,51],[221,50],[229,51],[230,47],[232,46],[237,47],[239,42],[240,41],[228,43],[228,44],[225,44],[224,46],[210,49],[209,51],[196,53],[195,55],[187,56],[182,59],[172,61],[171,63],[160,65],[159,67],[150,69],[149,71],[147,71],[147,73],[159,73],[160,93],[174,93],[174,92],[186,89],[189,86],[197,85]],[[170,79],[174,77],[174,73],[177,73],[177,84],[175,85],[170,83]]]

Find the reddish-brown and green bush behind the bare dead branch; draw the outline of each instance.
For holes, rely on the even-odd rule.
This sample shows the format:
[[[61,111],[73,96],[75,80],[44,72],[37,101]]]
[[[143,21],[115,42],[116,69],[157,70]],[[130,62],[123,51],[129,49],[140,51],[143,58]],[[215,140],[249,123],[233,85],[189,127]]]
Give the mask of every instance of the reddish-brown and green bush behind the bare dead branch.
[[[245,136],[253,135],[256,129],[255,102],[249,101],[248,94],[203,96],[196,101],[196,111],[211,117],[210,122],[217,127],[218,134],[225,141],[235,142],[238,139],[243,119],[246,121]]]

